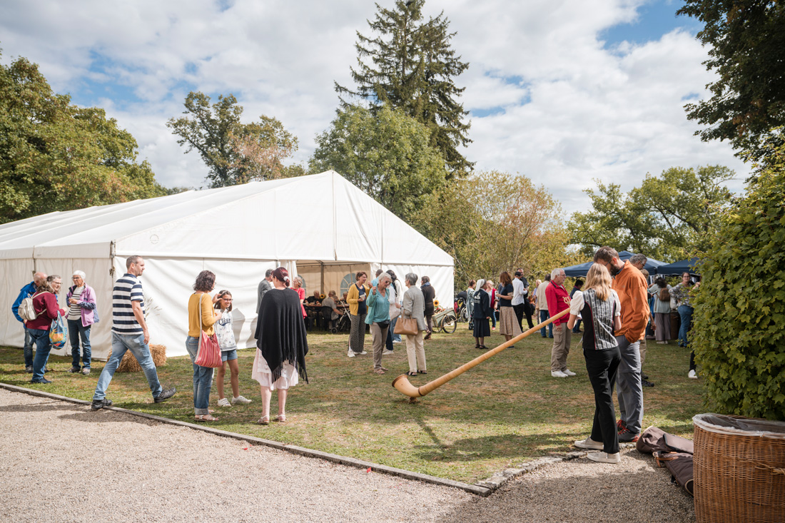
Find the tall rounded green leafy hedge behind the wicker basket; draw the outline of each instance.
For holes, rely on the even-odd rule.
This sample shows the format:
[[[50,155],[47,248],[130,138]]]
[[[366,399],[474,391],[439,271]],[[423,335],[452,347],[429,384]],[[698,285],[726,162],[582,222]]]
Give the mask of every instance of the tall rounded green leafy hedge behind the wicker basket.
[[[785,146],[768,152],[700,267],[691,344],[710,409],[785,420]]]

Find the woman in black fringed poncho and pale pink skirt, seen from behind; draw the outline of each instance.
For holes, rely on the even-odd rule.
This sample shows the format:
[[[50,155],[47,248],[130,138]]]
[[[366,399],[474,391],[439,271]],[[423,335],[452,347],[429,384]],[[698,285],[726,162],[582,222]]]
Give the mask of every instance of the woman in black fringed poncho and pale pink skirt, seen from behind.
[[[261,387],[261,425],[270,422],[272,391],[278,390],[278,416],[275,421],[287,420],[286,406],[289,388],[297,385],[298,375],[308,382],[305,373],[305,321],[300,297],[289,289],[289,273],[279,267],[272,272],[273,288],[265,294],[259,307],[256,325],[256,358],[251,377]]]

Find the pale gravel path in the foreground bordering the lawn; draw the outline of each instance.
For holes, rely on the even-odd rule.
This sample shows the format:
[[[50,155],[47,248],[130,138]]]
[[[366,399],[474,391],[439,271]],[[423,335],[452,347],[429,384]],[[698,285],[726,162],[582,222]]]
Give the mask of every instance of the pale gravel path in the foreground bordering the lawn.
[[[0,412],[2,521],[695,521],[692,499],[634,451],[480,498],[2,389]]]

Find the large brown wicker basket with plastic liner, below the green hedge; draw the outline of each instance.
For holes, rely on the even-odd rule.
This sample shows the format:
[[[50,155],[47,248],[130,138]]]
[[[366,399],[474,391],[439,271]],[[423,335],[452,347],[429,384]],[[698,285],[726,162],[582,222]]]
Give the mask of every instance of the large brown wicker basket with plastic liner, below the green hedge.
[[[695,512],[699,523],[785,521],[785,423],[699,414]]]

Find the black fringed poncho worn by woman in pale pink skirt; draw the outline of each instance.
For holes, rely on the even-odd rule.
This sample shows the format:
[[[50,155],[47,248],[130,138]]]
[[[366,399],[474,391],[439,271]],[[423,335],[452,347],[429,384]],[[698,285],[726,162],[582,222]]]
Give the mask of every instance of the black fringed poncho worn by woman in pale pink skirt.
[[[272,289],[265,294],[259,307],[256,339],[256,346],[261,349],[261,355],[272,371],[273,382],[281,377],[284,361],[294,365],[300,377],[308,382],[305,373],[308,340],[305,338],[300,297],[296,291]]]

